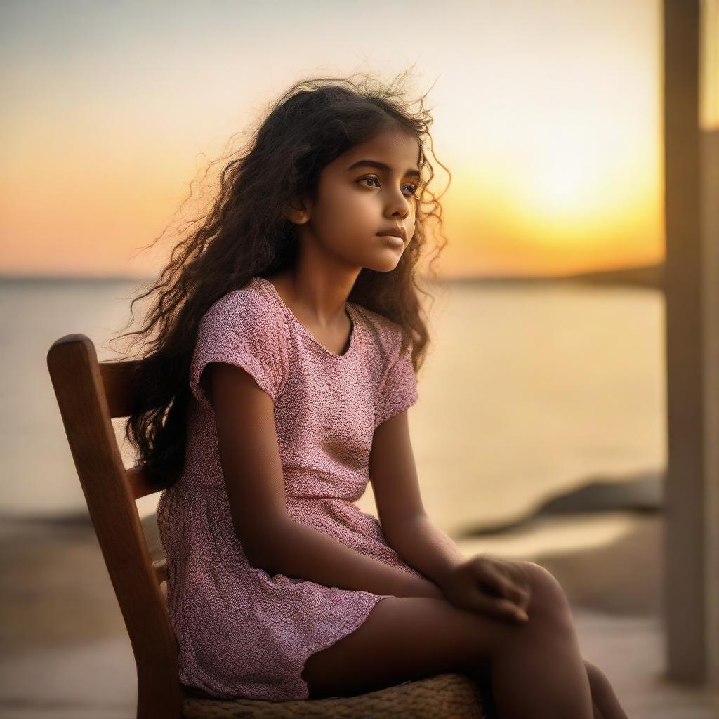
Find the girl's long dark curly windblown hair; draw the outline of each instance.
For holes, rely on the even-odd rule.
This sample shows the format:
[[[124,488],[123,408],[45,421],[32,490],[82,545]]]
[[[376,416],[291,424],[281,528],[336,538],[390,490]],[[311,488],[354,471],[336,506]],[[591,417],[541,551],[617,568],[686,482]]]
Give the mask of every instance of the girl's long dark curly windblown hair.
[[[299,81],[270,104],[266,118],[249,129],[249,139],[240,150],[210,163],[208,171],[217,162],[228,160],[219,174],[219,191],[209,211],[189,223],[185,237],[180,235],[159,278],[137,290],[130,303],[129,322],[122,329],[134,321],[134,304],[150,296],[145,324],[111,340],[112,344],[122,337],[137,336],[129,348],[145,341],[142,352],[134,356],[124,352],[125,359],[145,360],[135,364],[137,403],[127,420],[125,436],[137,449],[138,464],[144,466],[148,482],[157,490],[173,485],[184,464],[192,399],[188,379],[203,314],[255,275],[273,275],[293,266],[296,226],[283,209],[300,196],[314,196],[322,168],[336,157],[390,127],[400,127],[417,139],[420,170],[424,176],[426,168],[429,175],[418,187],[416,229],[397,267],[386,273],[362,268],[349,301],[400,324],[402,349],[412,345],[415,372],[423,364],[430,340],[418,293],[429,293],[417,283],[418,266],[429,254],[428,226],[434,219],[439,242],[434,244],[434,257],[425,276],[436,281],[432,265],[446,244],[439,203],[444,193],[437,195],[429,187],[435,173],[426,155],[429,139],[434,156],[429,134],[432,118],[423,105],[426,93],[412,111],[398,87],[406,75],[407,71],[400,73],[388,85],[367,75],[359,81]],[[446,172],[451,179],[449,170]]]

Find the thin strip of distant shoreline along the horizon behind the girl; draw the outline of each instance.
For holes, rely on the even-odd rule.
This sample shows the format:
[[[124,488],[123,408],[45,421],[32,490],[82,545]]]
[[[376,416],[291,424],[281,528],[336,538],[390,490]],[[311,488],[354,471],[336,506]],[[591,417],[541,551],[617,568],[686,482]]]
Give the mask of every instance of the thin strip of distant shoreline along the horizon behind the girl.
[[[155,280],[152,276],[140,275],[12,275],[0,273],[0,284],[22,285],[32,283],[53,284],[111,284],[147,283]],[[476,275],[470,277],[440,278],[440,285],[546,285],[556,283],[581,283],[589,285],[633,286],[651,289],[664,288],[664,263],[641,267],[623,267],[618,270],[574,275]]]

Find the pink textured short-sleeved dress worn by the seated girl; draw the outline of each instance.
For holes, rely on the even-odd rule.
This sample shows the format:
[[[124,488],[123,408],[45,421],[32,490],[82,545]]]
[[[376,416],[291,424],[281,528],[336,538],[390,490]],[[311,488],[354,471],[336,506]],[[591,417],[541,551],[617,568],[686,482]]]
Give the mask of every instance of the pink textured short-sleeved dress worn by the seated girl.
[[[400,326],[347,302],[344,354],[323,347],[269,280],[255,277],[205,313],[194,350],[180,480],[157,505],[180,682],[219,698],[306,699],[308,656],[357,629],[390,595],[270,575],[247,561],[232,524],[214,413],[198,382],[209,362],[238,365],[275,401],[288,512],[347,546],[421,577],[354,501],[365,492],[372,435],[417,398]],[[196,400],[196,401],[195,401]]]

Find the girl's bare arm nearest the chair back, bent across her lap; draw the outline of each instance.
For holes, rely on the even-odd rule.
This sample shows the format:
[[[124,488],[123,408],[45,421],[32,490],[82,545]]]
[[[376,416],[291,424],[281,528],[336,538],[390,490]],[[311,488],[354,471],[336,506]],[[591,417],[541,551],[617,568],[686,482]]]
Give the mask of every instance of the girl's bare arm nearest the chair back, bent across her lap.
[[[275,433],[273,401],[241,367],[211,362],[209,394],[235,532],[249,562],[270,574],[398,597],[443,597],[422,577],[367,557],[294,521]]]

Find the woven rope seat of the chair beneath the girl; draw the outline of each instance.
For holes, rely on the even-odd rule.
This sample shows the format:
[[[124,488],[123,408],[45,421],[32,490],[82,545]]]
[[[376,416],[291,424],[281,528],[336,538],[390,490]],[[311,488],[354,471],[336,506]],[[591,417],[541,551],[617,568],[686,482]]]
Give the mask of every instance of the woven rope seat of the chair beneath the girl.
[[[354,697],[287,702],[186,697],[185,719],[487,719],[480,689],[464,674],[436,674]]]

